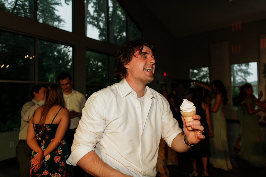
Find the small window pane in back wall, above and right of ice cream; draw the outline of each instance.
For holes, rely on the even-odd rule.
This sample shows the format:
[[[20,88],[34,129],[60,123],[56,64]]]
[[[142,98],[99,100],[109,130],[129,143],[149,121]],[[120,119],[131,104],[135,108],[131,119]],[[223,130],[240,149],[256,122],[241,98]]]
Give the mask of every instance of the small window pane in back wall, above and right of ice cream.
[[[189,78],[200,82],[210,83],[209,67],[189,69]]]

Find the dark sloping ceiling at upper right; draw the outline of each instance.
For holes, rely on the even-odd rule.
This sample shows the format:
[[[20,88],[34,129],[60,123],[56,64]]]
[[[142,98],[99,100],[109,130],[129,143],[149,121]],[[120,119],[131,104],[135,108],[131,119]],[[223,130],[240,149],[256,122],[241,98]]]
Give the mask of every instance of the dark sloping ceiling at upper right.
[[[175,37],[266,19],[266,0],[142,0]]]

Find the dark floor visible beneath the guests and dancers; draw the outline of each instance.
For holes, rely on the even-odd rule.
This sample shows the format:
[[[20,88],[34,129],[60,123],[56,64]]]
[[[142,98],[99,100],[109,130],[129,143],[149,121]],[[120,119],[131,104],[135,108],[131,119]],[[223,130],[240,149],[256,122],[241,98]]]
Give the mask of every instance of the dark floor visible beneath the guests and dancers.
[[[266,125],[261,124],[264,137],[266,137]],[[236,137],[237,137],[238,123],[234,121],[227,121],[227,132],[228,132],[228,145],[230,160],[233,166],[232,170],[224,171],[217,169],[208,164],[208,172],[211,177],[265,177],[266,168],[255,168],[250,167],[245,161],[235,158],[235,151],[233,149]],[[178,153],[179,166],[168,166],[170,171],[170,177],[188,177],[192,172],[192,166],[190,159],[186,157],[186,153]],[[198,161],[198,173],[201,176],[202,163]],[[266,166],[266,164],[265,164]],[[89,175],[85,175],[86,177]],[[158,176],[158,175],[157,175]],[[19,166],[16,158],[0,161],[0,177],[19,177]]]

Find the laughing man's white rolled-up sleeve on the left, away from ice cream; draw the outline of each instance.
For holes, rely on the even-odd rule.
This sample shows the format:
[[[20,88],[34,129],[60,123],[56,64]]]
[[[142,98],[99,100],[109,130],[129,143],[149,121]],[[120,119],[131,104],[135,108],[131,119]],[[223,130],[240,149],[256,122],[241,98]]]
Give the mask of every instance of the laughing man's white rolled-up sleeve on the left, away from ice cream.
[[[72,152],[66,161],[69,165],[76,166],[84,155],[94,150],[94,146],[103,136],[105,110],[103,105],[98,102],[100,98],[96,98],[96,96],[96,93],[91,95],[82,109],[82,117],[76,129],[71,147]]]

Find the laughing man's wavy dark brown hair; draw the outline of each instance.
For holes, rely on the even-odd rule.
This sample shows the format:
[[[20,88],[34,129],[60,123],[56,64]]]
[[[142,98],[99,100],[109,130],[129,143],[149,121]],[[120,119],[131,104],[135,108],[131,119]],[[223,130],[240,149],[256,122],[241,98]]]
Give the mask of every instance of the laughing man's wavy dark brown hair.
[[[144,45],[151,49],[154,56],[154,47],[151,43],[143,39],[132,39],[126,41],[122,44],[116,54],[117,58],[117,68],[115,68],[114,74],[119,79],[122,80],[126,77],[127,71],[124,65],[128,64],[133,55],[139,50],[140,56],[145,55],[145,52],[142,52]]]

